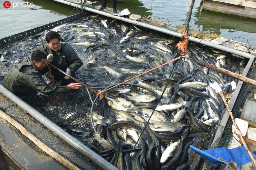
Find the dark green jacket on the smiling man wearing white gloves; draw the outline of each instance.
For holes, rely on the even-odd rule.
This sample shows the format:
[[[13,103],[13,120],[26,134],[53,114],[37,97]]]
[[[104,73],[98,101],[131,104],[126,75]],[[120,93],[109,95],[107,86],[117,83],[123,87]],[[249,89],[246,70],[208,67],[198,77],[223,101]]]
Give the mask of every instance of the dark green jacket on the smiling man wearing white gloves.
[[[51,64],[55,65],[62,71],[66,72],[67,68],[71,71],[71,76],[75,76],[75,71],[78,70],[82,65],[82,60],[78,57],[74,49],[71,45],[61,42],[60,49],[58,51],[53,51],[51,48],[45,43],[41,48],[41,51],[46,55],[53,54],[53,60]],[[47,76],[49,72],[47,73]],[[58,70],[51,69],[51,75],[55,77],[56,80],[62,80],[65,75]]]

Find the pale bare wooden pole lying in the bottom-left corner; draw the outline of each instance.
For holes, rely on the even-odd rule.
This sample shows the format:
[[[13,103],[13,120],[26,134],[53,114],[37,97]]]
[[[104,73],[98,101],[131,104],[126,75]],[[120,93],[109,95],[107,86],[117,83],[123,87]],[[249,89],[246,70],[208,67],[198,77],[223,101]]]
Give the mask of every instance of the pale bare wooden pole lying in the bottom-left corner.
[[[72,170],[79,170],[79,168],[71,163],[69,160],[67,160],[65,157],[61,156],[51,148],[49,148],[47,145],[45,145],[42,141],[40,141],[38,138],[36,138],[32,133],[30,133],[25,127],[23,127],[21,124],[19,124],[16,120],[14,120],[12,117],[4,113],[2,110],[0,110],[0,115],[10,124],[12,124],[14,127],[16,127],[20,132],[22,132],[23,135],[28,137],[32,142],[34,142],[40,149],[48,153],[50,156],[52,156],[54,159],[59,161],[61,164],[66,166],[69,169]]]

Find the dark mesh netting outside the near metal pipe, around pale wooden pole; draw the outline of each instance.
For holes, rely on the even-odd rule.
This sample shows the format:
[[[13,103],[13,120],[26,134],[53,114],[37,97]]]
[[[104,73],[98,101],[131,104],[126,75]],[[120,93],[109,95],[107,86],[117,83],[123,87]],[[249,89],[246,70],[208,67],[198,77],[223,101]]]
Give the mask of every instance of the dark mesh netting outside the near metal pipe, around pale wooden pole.
[[[68,143],[63,141],[61,138],[56,136],[49,129],[45,128],[36,119],[31,117],[23,109],[18,107],[15,103],[7,99],[5,96],[0,94],[0,109],[15,119],[18,123],[24,126],[29,132],[31,132],[40,141],[50,147],[52,150],[59,153],[61,156],[68,159],[74,165],[80,169],[100,169],[98,166],[93,164],[88,158],[80,154],[74,148],[72,148]],[[16,128],[14,128],[16,129]],[[33,150],[41,153],[42,155],[48,155],[42,151],[37,145],[31,142],[25,135],[20,131],[16,130],[17,135],[23,139]],[[50,155],[48,155],[50,156]]]

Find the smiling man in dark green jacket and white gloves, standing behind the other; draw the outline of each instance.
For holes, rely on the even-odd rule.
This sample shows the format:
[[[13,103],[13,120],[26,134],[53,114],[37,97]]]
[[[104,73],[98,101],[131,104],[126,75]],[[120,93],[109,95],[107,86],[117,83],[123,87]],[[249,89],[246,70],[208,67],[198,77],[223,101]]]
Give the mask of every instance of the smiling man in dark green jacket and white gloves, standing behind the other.
[[[75,71],[82,65],[82,60],[78,57],[71,45],[61,42],[64,41],[56,31],[49,31],[45,35],[46,44],[41,48],[41,51],[47,55],[47,61],[55,65],[67,74],[75,77]],[[56,80],[68,80],[69,77],[63,75],[61,72],[53,69],[51,70],[52,76]],[[47,73],[47,76],[49,74]]]

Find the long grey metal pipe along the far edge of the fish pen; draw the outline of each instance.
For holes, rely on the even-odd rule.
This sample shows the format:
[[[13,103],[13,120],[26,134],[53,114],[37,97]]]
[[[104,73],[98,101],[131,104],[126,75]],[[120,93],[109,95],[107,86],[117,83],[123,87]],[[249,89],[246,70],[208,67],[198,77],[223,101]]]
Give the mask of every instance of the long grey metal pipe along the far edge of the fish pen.
[[[60,3],[70,5],[70,6],[73,6],[73,7],[81,8],[81,5],[77,5],[77,4],[67,2],[67,1],[64,1],[64,0],[53,0],[53,1],[60,2]],[[138,25],[138,26],[141,26],[141,27],[152,29],[152,30],[155,30],[155,31],[158,31],[158,32],[163,32],[163,33],[166,33],[166,34],[169,34],[169,35],[173,35],[175,37],[181,38],[181,36],[182,36],[181,33],[177,33],[177,32],[174,32],[174,31],[167,30],[167,29],[155,27],[155,26],[152,26],[152,25],[149,25],[149,24],[146,24],[146,23],[134,21],[132,19],[119,17],[119,16],[114,16],[112,14],[105,13],[105,12],[99,11],[97,9],[92,9],[92,8],[88,8],[88,7],[83,7],[83,9],[87,10],[87,11],[91,11],[91,12],[96,13],[96,14],[104,15],[104,16],[107,16],[107,17],[110,17],[110,18],[118,19],[118,20],[121,20],[121,21],[124,21],[124,22],[132,23],[132,24],[135,24],[135,25]],[[213,48],[216,48],[218,50],[226,51],[228,53],[239,55],[239,56],[242,56],[242,57],[245,57],[245,58],[254,57],[254,55],[252,55],[252,54],[242,52],[242,51],[239,51],[239,50],[235,50],[233,48],[225,47],[225,46],[222,46],[222,45],[219,45],[219,44],[211,43],[211,42],[208,42],[208,41],[205,41],[205,40],[202,40],[202,39],[198,39],[198,38],[194,38],[194,37],[189,37],[189,41],[193,41],[193,42],[196,42],[196,43],[199,43],[199,44],[202,44],[202,45],[213,47]]]

